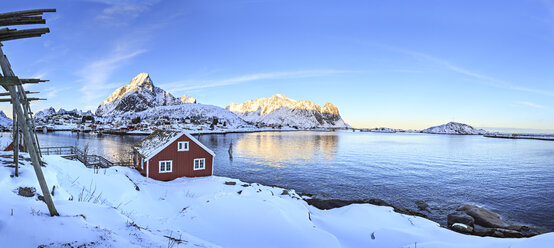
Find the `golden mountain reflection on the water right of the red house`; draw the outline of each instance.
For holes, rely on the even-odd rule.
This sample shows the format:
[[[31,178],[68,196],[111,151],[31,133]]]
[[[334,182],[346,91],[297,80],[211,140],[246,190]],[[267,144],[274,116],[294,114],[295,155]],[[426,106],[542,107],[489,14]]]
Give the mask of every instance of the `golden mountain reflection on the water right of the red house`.
[[[336,154],[339,136],[335,133],[306,135],[303,132],[265,132],[242,135],[233,146],[233,156],[252,163],[288,167],[322,156],[331,160]]]

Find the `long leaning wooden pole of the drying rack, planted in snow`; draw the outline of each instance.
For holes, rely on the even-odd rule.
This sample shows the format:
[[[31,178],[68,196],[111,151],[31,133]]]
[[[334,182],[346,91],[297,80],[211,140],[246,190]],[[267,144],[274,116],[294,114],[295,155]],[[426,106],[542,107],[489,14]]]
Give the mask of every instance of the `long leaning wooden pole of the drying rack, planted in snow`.
[[[12,76],[14,77],[15,74],[13,73],[11,66],[9,64],[8,58],[4,55],[4,52],[2,51],[2,48],[0,46],[0,66],[2,67],[2,73],[4,76]],[[27,150],[29,151],[29,155],[31,157],[31,163],[33,164],[33,167],[35,169],[35,174],[37,176],[40,188],[42,190],[42,195],[44,196],[44,202],[46,203],[46,206],[48,207],[48,211],[50,212],[51,216],[59,216],[58,211],[56,210],[56,207],[54,206],[54,201],[52,201],[52,196],[50,195],[50,190],[48,188],[48,185],[46,184],[46,179],[44,178],[44,174],[42,173],[42,162],[40,158],[39,148],[38,148],[38,141],[35,141],[36,138],[35,130],[32,127],[32,119],[29,116],[28,111],[28,101],[26,102],[25,108],[21,105],[21,102],[19,101],[20,98],[23,98],[23,100],[26,100],[25,97],[25,91],[23,90],[23,87],[21,85],[16,86],[4,86],[7,88],[7,90],[11,94],[12,98],[12,104],[15,109],[15,113],[17,115],[17,124],[21,128],[21,131],[23,132],[23,138],[25,140],[25,146],[27,147]],[[25,104],[25,103],[24,103]]]

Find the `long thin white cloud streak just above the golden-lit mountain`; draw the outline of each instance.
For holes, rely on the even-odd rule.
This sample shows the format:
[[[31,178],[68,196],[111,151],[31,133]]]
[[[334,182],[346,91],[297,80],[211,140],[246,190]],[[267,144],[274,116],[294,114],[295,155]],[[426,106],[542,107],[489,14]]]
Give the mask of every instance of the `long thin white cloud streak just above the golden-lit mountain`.
[[[222,79],[222,80],[206,80],[206,81],[179,81],[168,84],[160,84],[162,88],[168,88],[169,91],[187,91],[187,90],[199,90],[206,88],[222,87],[228,85],[243,84],[252,81],[259,80],[271,80],[271,79],[285,79],[285,78],[310,78],[321,77],[332,74],[349,73],[355,71],[346,70],[305,70],[305,71],[289,71],[289,72],[269,72],[269,73],[255,73],[249,75],[243,75],[240,77]]]

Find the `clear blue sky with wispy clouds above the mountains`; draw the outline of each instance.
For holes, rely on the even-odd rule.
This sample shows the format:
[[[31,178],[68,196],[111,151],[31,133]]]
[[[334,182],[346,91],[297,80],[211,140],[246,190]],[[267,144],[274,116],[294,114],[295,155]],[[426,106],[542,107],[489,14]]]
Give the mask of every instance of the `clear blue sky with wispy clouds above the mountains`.
[[[554,129],[554,1],[8,1],[57,8],[4,43],[33,105],[96,110],[140,72],[225,107],[277,93],[355,127]],[[9,105],[1,106],[5,112]]]

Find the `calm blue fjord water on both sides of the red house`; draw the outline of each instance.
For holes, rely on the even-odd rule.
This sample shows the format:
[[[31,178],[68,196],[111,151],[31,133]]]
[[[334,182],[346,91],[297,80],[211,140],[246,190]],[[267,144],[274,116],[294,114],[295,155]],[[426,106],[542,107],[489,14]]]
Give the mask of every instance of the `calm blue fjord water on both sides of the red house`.
[[[198,137],[198,136],[197,136]],[[41,146],[88,144],[127,158],[141,136],[40,134]],[[214,173],[320,197],[380,198],[445,224],[460,204],[483,205],[513,222],[554,231],[554,142],[481,136],[352,132],[200,135],[216,152]],[[232,147],[232,159],[228,150]]]

